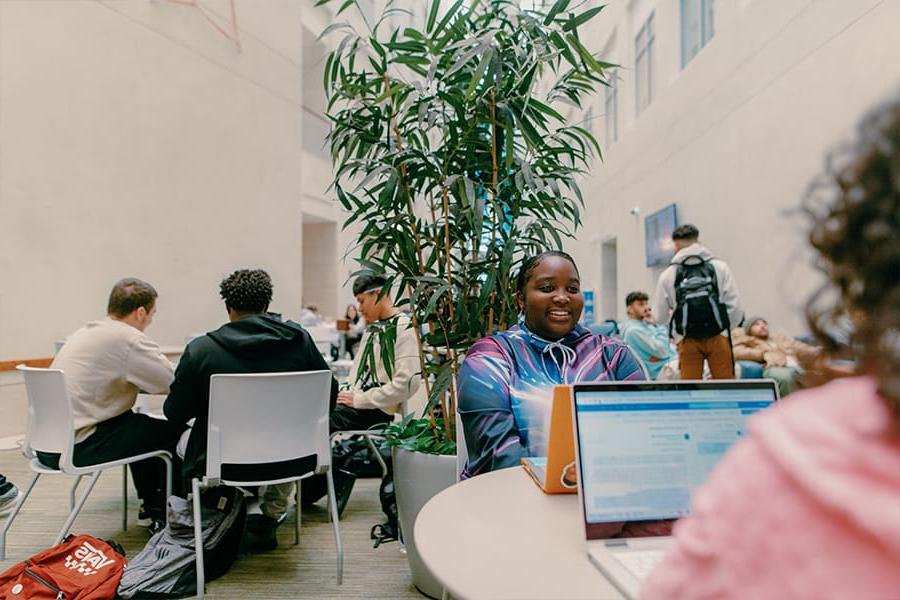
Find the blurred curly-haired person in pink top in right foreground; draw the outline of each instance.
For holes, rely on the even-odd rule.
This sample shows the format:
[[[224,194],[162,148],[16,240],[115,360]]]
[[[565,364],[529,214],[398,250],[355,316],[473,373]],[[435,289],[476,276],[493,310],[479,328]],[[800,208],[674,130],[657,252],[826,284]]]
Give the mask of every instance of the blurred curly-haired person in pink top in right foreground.
[[[675,525],[645,599],[900,598],[900,97],[849,150],[806,198],[828,280],[807,316],[826,353],[852,321],[860,376],[751,421]]]

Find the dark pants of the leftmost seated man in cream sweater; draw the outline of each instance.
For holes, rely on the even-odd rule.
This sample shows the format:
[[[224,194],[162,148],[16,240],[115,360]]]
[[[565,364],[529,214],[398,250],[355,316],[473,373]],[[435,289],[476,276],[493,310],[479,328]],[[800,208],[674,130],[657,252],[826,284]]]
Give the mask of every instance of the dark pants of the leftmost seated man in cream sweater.
[[[179,494],[181,461],[175,454],[175,445],[183,430],[183,425],[173,425],[169,421],[128,411],[99,423],[94,433],[75,444],[72,462],[76,467],[85,467],[154,450],[168,450],[172,454],[172,492]],[[59,454],[38,452],[37,455],[48,467],[59,468]],[[163,461],[148,458],[129,466],[144,508],[165,514],[166,467]]]

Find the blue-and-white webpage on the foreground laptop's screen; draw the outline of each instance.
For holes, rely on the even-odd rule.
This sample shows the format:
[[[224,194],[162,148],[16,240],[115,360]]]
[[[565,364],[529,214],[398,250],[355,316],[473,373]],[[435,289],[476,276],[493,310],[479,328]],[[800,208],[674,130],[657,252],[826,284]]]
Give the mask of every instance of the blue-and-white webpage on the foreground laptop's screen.
[[[687,514],[691,492],[773,400],[765,389],[579,393],[587,521]]]

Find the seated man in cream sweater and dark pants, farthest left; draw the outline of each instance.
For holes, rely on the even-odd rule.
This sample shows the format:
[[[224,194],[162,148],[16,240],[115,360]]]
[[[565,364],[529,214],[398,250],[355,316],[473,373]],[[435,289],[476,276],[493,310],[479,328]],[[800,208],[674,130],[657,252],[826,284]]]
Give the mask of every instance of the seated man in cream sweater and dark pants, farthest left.
[[[65,373],[75,420],[72,460],[77,466],[153,450],[175,454],[184,426],[131,410],[139,391],[165,394],[174,377],[172,363],[144,334],[153,322],[156,298],[153,286],[140,279],[117,282],[106,318],[69,336],[50,365]],[[58,454],[39,452],[38,458],[50,467],[59,464]],[[139,524],[159,523],[166,506],[163,462],[154,458],[133,463],[131,472],[142,501]]]

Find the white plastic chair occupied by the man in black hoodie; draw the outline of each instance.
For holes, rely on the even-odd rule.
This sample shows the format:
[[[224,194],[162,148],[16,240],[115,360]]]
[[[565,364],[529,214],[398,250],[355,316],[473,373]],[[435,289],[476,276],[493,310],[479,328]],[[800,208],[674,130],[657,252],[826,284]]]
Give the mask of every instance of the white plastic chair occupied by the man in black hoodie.
[[[328,413],[331,371],[213,375],[209,382],[206,475],[191,481],[197,595],[204,597],[200,491],[216,485],[298,482],[325,474],[337,546],[337,581],[344,550],[331,473]],[[300,541],[300,486],[296,486],[295,543]]]

